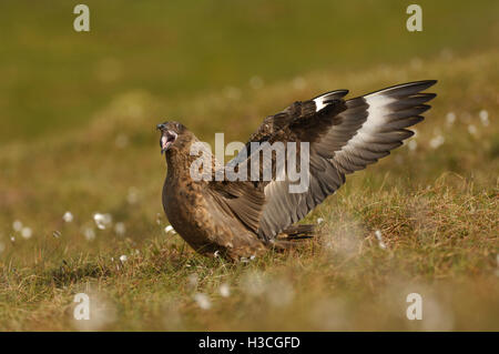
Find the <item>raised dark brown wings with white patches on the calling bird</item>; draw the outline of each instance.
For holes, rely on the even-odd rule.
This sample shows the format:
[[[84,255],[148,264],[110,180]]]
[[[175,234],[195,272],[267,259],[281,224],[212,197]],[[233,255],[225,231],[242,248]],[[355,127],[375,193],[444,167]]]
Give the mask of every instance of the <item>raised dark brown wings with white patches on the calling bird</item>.
[[[289,193],[294,183],[287,175],[284,181],[275,179],[283,171],[274,171],[271,182],[261,182],[266,202],[258,236],[272,240],[333,194],[345,182],[345,174],[365,169],[401,145],[414,134],[406,128],[424,119],[420,114],[430,108],[425,103],[436,97],[421,91],[435,83],[405,83],[347,101],[342,99],[346,91],[335,91],[339,97],[328,98],[330,93],[326,93],[294,103],[285,119],[276,119],[283,112],[267,118],[273,129],[261,127],[252,138],[271,143],[309,142],[309,185],[303,193]],[[234,162],[243,163],[244,156],[236,156]]]

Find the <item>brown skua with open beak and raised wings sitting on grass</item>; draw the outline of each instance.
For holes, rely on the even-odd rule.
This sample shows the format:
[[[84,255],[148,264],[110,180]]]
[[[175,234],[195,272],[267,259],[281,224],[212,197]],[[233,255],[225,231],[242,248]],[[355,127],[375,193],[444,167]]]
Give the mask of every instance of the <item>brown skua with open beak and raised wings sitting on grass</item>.
[[[197,151],[207,156],[200,169],[195,164],[200,154],[191,152],[198,146],[196,136],[179,122],[159,124],[167,163],[163,208],[170,223],[195,251],[208,256],[237,261],[292,246],[313,232],[312,225],[293,224],[338,190],[346,174],[388,155],[414,134],[407,128],[424,120],[420,114],[430,108],[425,103],[436,97],[421,91],[436,82],[404,83],[350,100],[344,99],[347,90],[338,90],[295,102],[267,117],[225,168],[205,146]],[[252,149],[252,143],[259,146]],[[272,150],[278,143],[285,146],[286,163],[279,164],[278,153]],[[293,143],[296,151],[289,148]],[[259,159],[267,152],[269,161]],[[299,165],[303,155],[308,163],[307,188],[292,192],[296,181],[289,168]],[[265,179],[268,165],[271,174]],[[248,181],[234,180],[223,173],[226,168],[243,176],[258,174]]]

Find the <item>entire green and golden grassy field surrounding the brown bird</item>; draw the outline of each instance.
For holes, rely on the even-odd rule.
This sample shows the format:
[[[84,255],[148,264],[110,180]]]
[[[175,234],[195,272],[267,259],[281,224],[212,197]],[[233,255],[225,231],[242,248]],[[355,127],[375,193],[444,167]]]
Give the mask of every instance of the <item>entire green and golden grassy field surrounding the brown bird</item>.
[[[497,1],[420,1],[420,33],[400,1],[86,1],[90,33],[48,3],[0,4],[0,330],[499,330]],[[424,79],[417,134],[302,247],[230,264],[165,233],[156,123],[246,141],[294,100]]]

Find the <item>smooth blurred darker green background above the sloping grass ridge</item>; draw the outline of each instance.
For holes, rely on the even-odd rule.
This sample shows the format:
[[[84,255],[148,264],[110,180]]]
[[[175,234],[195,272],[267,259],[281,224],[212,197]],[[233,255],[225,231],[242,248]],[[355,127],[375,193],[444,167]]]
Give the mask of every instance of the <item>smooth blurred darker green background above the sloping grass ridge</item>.
[[[75,32],[78,3],[0,3],[1,143],[80,128],[131,90],[175,102],[255,75],[273,82],[499,43],[496,0],[418,1],[422,32],[406,29],[409,1],[89,0],[91,31]]]

